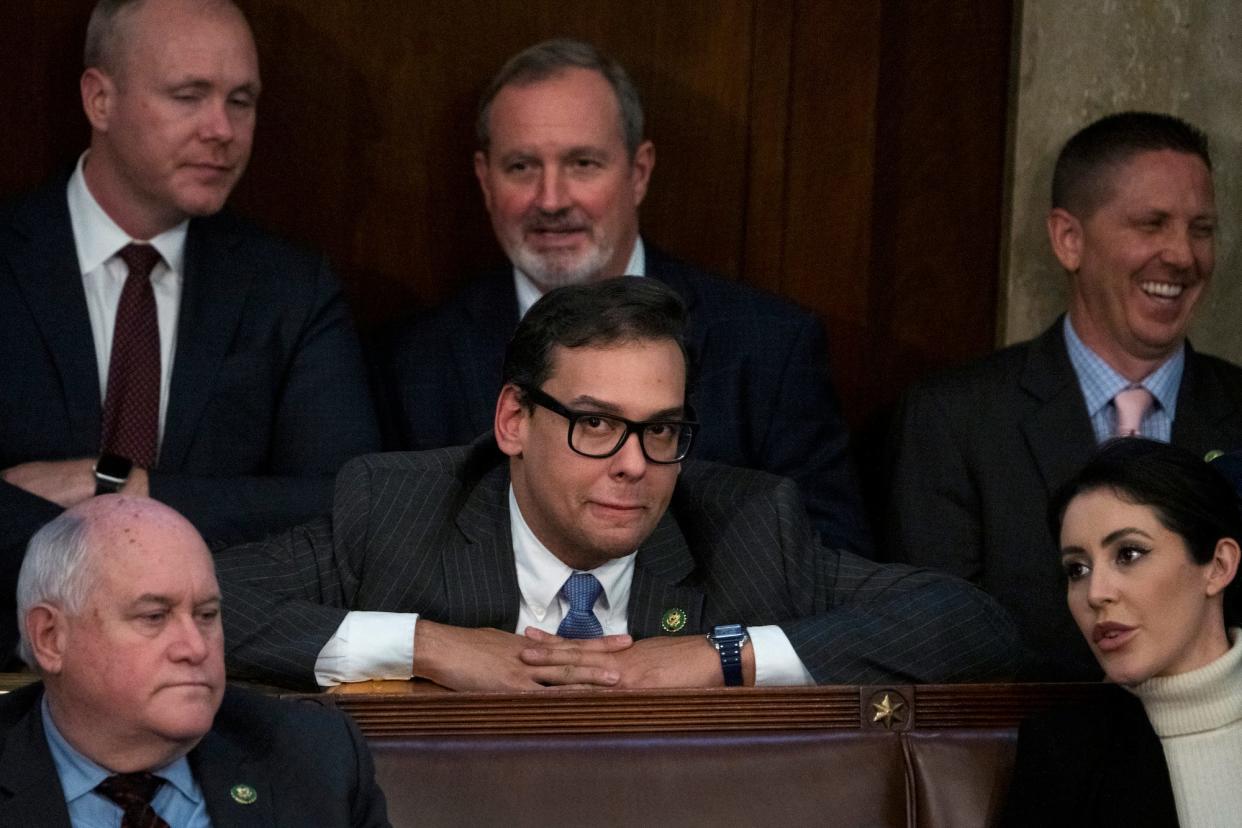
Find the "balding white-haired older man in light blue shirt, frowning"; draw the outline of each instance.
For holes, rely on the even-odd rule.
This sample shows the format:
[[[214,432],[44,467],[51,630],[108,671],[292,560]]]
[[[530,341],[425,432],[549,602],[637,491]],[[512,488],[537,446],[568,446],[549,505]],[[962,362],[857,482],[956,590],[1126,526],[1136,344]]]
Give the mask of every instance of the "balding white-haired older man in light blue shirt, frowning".
[[[19,612],[42,682],[0,699],[0,823],[388,824],[345,715],[225,688],[211,555],[168,506],[106,495],[52,520]]]

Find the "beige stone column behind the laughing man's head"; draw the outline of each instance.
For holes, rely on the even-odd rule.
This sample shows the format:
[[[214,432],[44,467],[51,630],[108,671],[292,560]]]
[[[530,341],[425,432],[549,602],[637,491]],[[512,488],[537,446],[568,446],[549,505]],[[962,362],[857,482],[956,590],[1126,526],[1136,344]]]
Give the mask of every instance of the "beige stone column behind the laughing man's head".
[[[1150,109],[1185,118],[1211,140],[1216,271],[1191,339],[1242,362],[1242,4],[1026,0],[1015,41],[1001,343],[1035,336],[1066,307],[1066,274],[1045,228],[1061,145],[1100,115]]]

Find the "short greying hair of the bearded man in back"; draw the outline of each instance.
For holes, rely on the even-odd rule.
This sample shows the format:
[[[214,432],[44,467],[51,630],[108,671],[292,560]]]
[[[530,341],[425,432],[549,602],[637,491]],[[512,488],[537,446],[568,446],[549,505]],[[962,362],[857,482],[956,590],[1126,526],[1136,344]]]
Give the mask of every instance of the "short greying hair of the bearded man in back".
[[[474,134],[478,148],[484,153],[492,145],[492,128],[488,118],[492,115],[492,102],[507,86],[525,86],[539,83],[560,74],[566,70],[591,70],[604,76],[604,79],[616,93],[621,115],[621,133],[626,149],[632,156],[642,143],[642,101],[638,89],[626,73],[625,67],[590,43],[580,40],[559,37],[525,48],[510,57],[492,82],[487,84],[478,102],[478,115],[474,120]]]

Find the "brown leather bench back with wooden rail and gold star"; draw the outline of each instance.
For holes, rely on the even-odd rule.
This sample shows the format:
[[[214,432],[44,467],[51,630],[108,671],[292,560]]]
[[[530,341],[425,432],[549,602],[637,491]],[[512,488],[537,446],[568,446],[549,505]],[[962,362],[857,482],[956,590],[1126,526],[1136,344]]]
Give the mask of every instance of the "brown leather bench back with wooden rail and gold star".
[[[1098,685],[340,696],[394,826],[987,826]],[[887,703],[886,703],[887,700]],[[895,711],[895,715],[884,715]]]

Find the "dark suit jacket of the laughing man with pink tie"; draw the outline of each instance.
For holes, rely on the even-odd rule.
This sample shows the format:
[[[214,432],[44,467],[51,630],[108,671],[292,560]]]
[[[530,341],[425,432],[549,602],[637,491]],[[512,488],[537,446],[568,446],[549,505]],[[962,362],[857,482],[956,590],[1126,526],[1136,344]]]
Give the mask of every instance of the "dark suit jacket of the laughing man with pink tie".
[[[914,386],[899,423],[888,554],[996,596],[1032,650],[1032,678],[1099,678],[1047,523],[1048,498],[1095,449],[1061,322]],[[1242,369],[1187,345],[1172,442],[1200,456],[1242,447]]]

